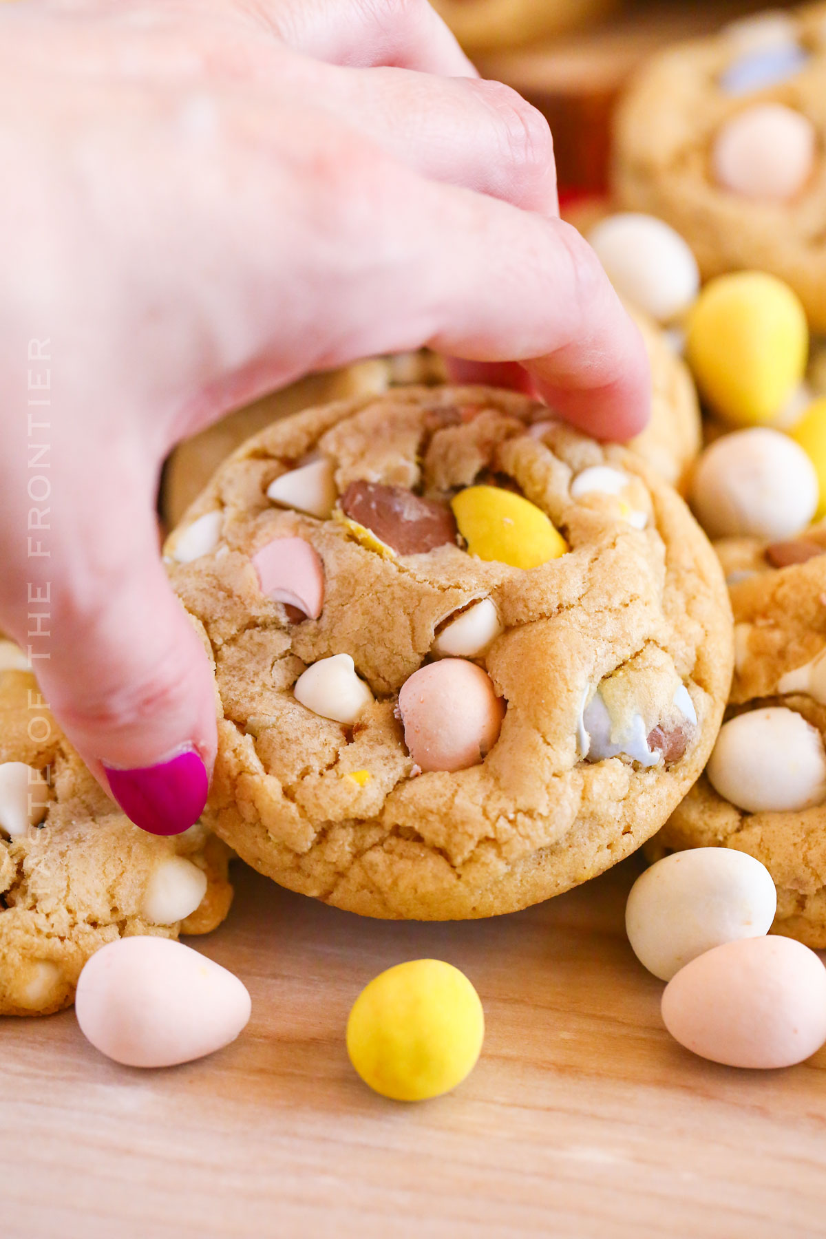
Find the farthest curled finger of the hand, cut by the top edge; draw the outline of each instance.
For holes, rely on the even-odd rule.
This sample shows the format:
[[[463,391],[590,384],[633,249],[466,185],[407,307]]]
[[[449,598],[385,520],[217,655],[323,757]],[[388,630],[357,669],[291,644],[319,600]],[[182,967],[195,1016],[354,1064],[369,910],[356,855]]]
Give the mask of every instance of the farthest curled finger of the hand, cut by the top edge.
[[[476,77],[427,0],[245,0],[241,7],[296,51],[331,64]]]

